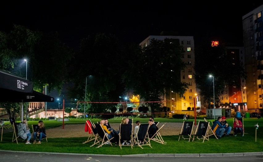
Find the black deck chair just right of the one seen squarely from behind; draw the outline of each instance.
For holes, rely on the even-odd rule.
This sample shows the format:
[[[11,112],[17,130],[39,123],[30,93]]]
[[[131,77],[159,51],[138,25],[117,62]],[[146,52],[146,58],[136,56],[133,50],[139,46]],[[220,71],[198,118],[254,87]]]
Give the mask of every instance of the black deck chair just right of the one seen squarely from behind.
[[[143,149],[142,146],[146,146],[146,145],[151,147],[150,141],[146,141],[146,138],[149,138],[149,136],[148,136],[149,127],[150,127],[150,125],[148,123],[139,125],[138,132],[136,132],[134,140],[133,140],[133,144],[132,144],[133,146],[135,146],[135,144],[137,144],[142,149]],[[141,139],[141,144],[140,144],[140,139]]]

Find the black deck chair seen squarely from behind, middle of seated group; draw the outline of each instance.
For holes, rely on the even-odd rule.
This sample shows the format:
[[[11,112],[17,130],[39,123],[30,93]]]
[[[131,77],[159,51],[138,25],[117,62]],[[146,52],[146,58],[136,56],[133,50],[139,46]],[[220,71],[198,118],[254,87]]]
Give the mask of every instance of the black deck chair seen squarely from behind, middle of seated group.
[[[130,119],[131,120],[131,119]],[[132,121],[132,120],[131,120]],[[119,147],[121,149],[122,146],[131,146],[133,145],[133,121],[131,124],[120,124],[120,130],[119,130]],[[131,143],[129,145],[121,145],[120,140],[127,141],[128,139],[131,139]]]

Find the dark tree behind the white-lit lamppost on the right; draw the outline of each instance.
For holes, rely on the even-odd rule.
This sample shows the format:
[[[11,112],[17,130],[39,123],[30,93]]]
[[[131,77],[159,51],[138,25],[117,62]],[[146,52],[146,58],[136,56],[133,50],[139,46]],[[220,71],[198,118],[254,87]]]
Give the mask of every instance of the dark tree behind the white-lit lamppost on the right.
[[[215,103],[219,102],[219,95],[224,86],[240,87],[240,78],[246,78],[245,70],[240,64],[233,64],[232,57],[226,52],[224,44],[211,46],[211,41],[203,41],[195,49],[195,82],[201,90],[200,94],[204,96],[204,101],[208,103],[208,107],[212,109],[211,101],[213,101],[213,91],[215,89]],[[222,68],[224,65],[224,68]],[[220,69],[220,70],[219,70]],[[213,79],[214,77],[214,88]]]

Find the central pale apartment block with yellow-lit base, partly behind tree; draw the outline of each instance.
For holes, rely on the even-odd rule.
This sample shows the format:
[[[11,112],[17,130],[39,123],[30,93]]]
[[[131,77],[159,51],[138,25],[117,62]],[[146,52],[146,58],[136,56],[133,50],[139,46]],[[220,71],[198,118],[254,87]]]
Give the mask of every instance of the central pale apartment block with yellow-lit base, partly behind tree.
[[[182,113],[182,110],[187,110],[187,107],[194,107],[194,99],[196,92],[196,84],[194,82],[194,37],[193,36],[165,36],[162,32],[160,36],[148,36],[145,40],[140,43],[142,48],[150,44],[151,39],[165,40],[173,39],[176,40],[184,49],[185,55],[182,61],[186,63],[186,68],[180,72],[181,82],[189,84],[189,89],[185,92],[181,98],[173,90],[166,89],[166,95],[164,100],[165,106],[169,107],[172,113]],[[195,103],[196,104],[196,103]],[[190,111],[193,113],[193,111]]]

